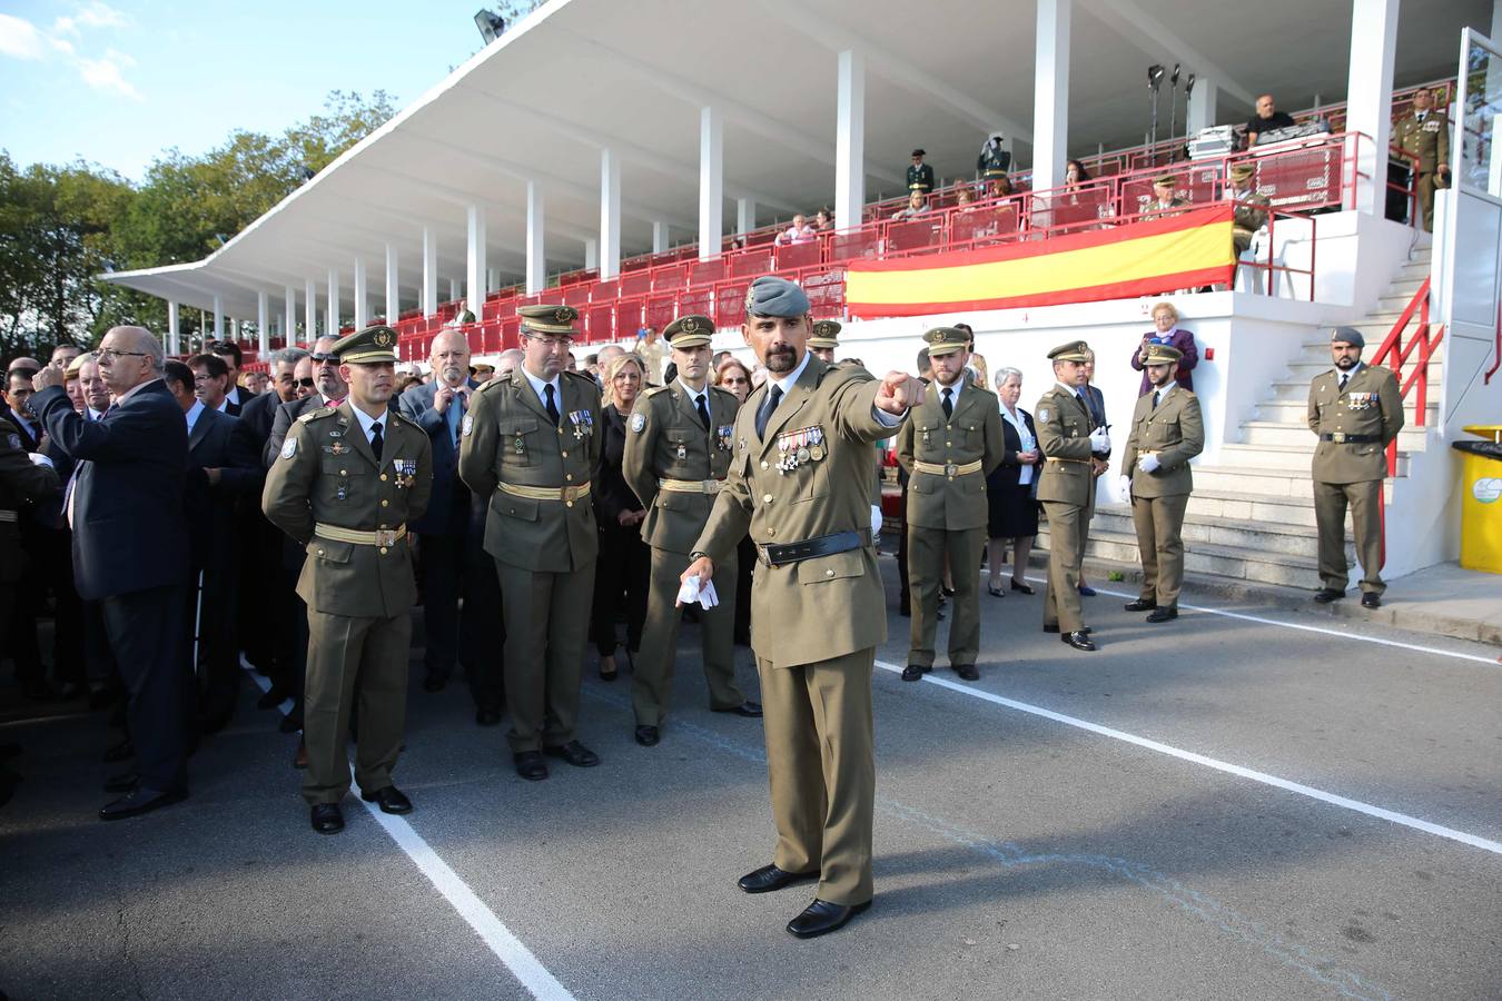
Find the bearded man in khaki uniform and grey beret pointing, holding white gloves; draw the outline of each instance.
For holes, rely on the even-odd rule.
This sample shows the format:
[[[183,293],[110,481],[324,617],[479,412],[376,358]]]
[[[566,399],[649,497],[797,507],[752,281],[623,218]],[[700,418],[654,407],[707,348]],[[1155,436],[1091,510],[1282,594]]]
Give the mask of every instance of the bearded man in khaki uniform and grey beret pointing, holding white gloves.
[[[742,333],[768,381],[736,414],[730,477],[683,573],[709,581],[749,528],[751,645],[778,840],[772,864],[739,887],[766,893],[817,878],[817,897],[787,926],[799,938],[832,932],[871,903],[871,668],[886,638],[871,446],[922,402],[922,384],[903,372],[877,381],[811,357],[808,327],[802,288],[753,282]]]

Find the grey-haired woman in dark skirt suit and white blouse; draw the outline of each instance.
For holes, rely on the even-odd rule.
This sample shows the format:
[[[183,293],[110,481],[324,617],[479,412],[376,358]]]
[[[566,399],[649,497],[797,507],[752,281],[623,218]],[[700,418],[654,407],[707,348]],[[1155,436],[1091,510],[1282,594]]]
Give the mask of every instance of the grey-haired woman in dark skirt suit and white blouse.
[[[1033,500],[1042,453],[1038,450],[1038,431],[1032,414],[1017,405],[1023,395],[1023,374],[1014,368],[996,372],[996,395],[1002,399],[1002,464],[985,477],[985,497],[990,506],[987,531],[990,536],[985,566],[991,576],[987,590],[1003,597],[1002,555],[1012,548],[1012,590],[1032,594],[1023,581],[1027,572],[1027,554],[1032,552],[1033,536],[1038,534],[1038,501]]]

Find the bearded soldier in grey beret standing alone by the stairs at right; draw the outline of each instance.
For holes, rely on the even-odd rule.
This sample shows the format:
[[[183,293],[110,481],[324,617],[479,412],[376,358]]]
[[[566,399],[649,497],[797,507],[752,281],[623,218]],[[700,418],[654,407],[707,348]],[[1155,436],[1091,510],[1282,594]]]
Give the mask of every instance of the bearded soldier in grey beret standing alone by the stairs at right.
[[[1403,396],[1388,368],[1362,365],[1365,338],[1352,327],[1331,332],[1335,368],[1310,383],[1310,431],[1314,447],[1314,521],[1319,525],[1320,605],[1346,596],[1346,507],[1361,560],[1361,603],[1379,608],[1382,593],[1382,480],[1388,476],[1388,443],[1403,431]]]

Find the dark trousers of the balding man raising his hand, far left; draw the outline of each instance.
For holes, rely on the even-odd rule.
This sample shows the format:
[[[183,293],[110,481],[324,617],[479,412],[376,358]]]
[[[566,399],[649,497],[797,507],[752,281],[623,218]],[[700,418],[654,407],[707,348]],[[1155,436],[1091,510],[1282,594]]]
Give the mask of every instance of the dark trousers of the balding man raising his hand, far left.
[[[188,783],[182,587],[113,594],[99,602],[110,651],[125,678],[126,723],[135,744],[141,788]]]

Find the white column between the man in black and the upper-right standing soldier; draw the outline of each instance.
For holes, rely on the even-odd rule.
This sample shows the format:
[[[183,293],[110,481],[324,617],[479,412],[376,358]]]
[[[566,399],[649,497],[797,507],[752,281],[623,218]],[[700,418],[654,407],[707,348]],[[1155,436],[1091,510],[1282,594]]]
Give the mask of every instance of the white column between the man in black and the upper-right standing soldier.
[[[1356,146],[1355,209],[1376,216],[1386,203],[1397,35],[1398,0],[1352,0],[1346,131],[1367,137]]]

